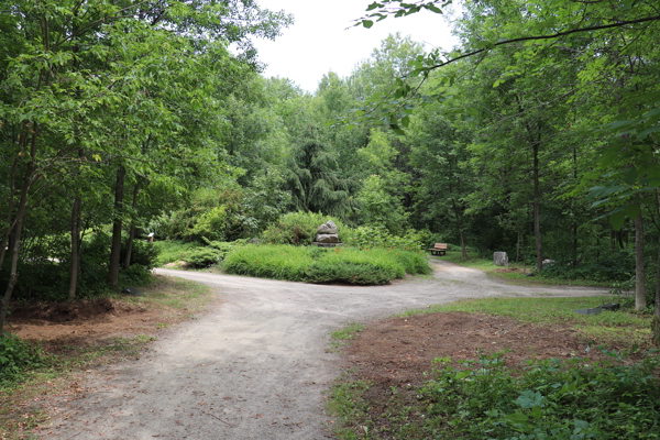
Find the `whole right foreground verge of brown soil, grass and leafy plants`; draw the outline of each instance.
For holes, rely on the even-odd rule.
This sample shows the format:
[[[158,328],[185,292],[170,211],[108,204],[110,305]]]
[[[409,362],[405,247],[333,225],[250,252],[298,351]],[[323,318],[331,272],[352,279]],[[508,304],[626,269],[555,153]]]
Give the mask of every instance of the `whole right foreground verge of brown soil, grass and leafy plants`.
[[[336,435],[660,438],[650,320],[625,310],[572,312],[604,301],[613,298],[480,299],[373,323],[344,348],[358,369],[330,392]]]

